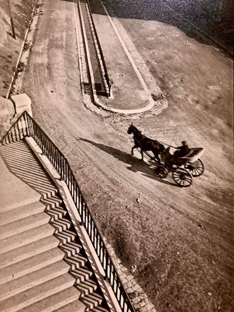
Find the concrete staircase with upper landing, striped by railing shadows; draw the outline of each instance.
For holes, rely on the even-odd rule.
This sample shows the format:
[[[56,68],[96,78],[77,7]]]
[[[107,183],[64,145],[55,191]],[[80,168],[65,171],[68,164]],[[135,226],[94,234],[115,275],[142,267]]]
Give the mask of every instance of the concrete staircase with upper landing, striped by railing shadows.
[[[50,178],[25,142],[1,146],[0,152],[9,174],[41,195],[36,201],[24,198],[13,206],[1,207],[1,312],[108,312],[70,216]]]

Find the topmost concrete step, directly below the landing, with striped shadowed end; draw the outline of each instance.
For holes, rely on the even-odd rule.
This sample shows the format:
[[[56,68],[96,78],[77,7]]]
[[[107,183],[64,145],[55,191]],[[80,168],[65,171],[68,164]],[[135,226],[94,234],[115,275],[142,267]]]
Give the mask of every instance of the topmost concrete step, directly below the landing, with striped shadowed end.
[[[27,205],[17,207],[0,213],[0,226],[32,216],[42,211],[58,207],[62,204],[61,198],[53,196],[32,202]]]

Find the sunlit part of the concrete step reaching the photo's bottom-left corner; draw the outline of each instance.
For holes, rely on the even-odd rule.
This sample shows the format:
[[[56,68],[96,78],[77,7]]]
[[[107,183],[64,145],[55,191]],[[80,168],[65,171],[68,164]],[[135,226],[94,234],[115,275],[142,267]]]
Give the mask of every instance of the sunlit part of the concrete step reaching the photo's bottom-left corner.
[[[24,311],[27,306],[33,305],[34,303],[44,300],[45,298],[62,293],[63,290],[72,287],[76,280],[68,273],[60,275],[52,280],[37,285],[26,291],[23,291],[17,295],[13,295],[2,302],[0,302],[1,312],[15,312],[18,310]],[[51,299],[50,299],[51,300]],[[48,301],[50,301],[48,300]],[[55,301],[51,302],[56,304]],[[34,310],[29,310],[35,312]],[[39,310],[40,311],[40,310]]]

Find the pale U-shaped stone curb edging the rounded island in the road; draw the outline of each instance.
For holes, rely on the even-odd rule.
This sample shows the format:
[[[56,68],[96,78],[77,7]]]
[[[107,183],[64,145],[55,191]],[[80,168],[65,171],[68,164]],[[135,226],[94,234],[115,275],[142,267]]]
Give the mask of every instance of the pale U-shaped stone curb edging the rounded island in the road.
[[[90,79],[91,79],[91,89],[92,89],[92,93],[93,93],[93,99],[94,99],[94,103],[97,107],[103,109],[103,110],[107,110],[107,111],[111,111],[111,112],[114,112],[114,113],[120,113],[120,114],[136,114],[136,113],[142,113],[146,110],[150,110],[152,107],[154,107],[154,100],[152,98],[152,96],[150,95],[149,93],[149,90],[147,88],[147,86],[145,85],[144,83],[144,80],[142,79],[142,77],[140,76],[140,73],[139,71],[137,70],[136,74],[143,86],[143,89],[145,91],[147,91],[150,95],[150,100],[149,100],[149,104],[146,105],[145,107],[142,107],[142,108],[139,108],[139,109],[133,109],[133,110],[122,110],[122,109],[117,109],[117,108],[113,108],[113,107],[109,107],[107,105],[105,105],[104,103],[102,103],[102,101],[98,98],[98,96],[96,95],[96,92],[95,92],[95,86],[94,86],[94,77],[93,77],[93,73],[92,73],[92,67],[91,67],[91,61],[90,61],[90,54],[89,54],[89,49],[88,49],[88,41],[87,41],[87,37],[86,37],[86,34],[85,34],[85,28],[84,28],[84,21],[83,21],[83,17],[82,17],[82,12],[81,12],[81,8],[80,8],[80,1],[78,0],[78,6],[79,6],[79,11],[80,11],[80,17],[81,17],[81,26],[82,26],[82,32],[83,32],[83,38],[84,38],[84,42],[85,42],[85,52],[86,52],[86,57],[87,57],[87,61],[88,61],[88,67],[89,67],[89,73],[90,73]],[[74,8],[75,9],[75,8]],[[76,12],[75,12],[76,14]],[[108,14],[108,12],[107,12]],[[108,17],[110,18],[109,14],[108,14]],[[78,36],[78,25],[77,25],[77,16],[76,16],[76,33],[77,33],[77,40],[79,41],[79,36]],[[113,26],[113,25],[112,25]],[[115,28],[114,28],[115,32],[117,31]],[[120,35],[117,37],[119,38]],[[119,39],[120,40],[120,39]],[[121,42],[121,41],[120,41]],[[121,43],[122,44],[122,43]],[[77,45],[78,42],[77,42]],[[125,45],[124,45],[125,46]],[[125,46],[125,49],[124,51],[126,50],[126,46]],[[126,51],[125,51],[126,52]],[[129,54],[129,52],[128,52]],[[129,57],[129,55],[127,55]],[[78,49],[78,57],[79,57],[79,65],[80,65],[80,55],[79,55],[79,49]],[[130,63],[131,65],[133,66],[134,70],[136,71],[136,66],[134,64],[134,61],[133,60],[130,60]],[[81,71],[81,67],[80,67],[80,71]],[[140,76],[140,77],[139,77]],[[82,73],[80,74],[80,77],[82,79]],[[82,82],[82,81],[81,81]]]

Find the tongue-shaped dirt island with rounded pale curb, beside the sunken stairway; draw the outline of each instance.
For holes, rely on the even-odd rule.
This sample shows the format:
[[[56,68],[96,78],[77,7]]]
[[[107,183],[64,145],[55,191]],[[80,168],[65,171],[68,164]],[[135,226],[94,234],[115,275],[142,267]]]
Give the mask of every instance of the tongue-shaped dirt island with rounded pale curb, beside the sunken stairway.
[[[96,95],[102,109],[123,114],[151,109],[154,100],[101,1],[90,0],[90,10],[111,80],[113,99]]]

